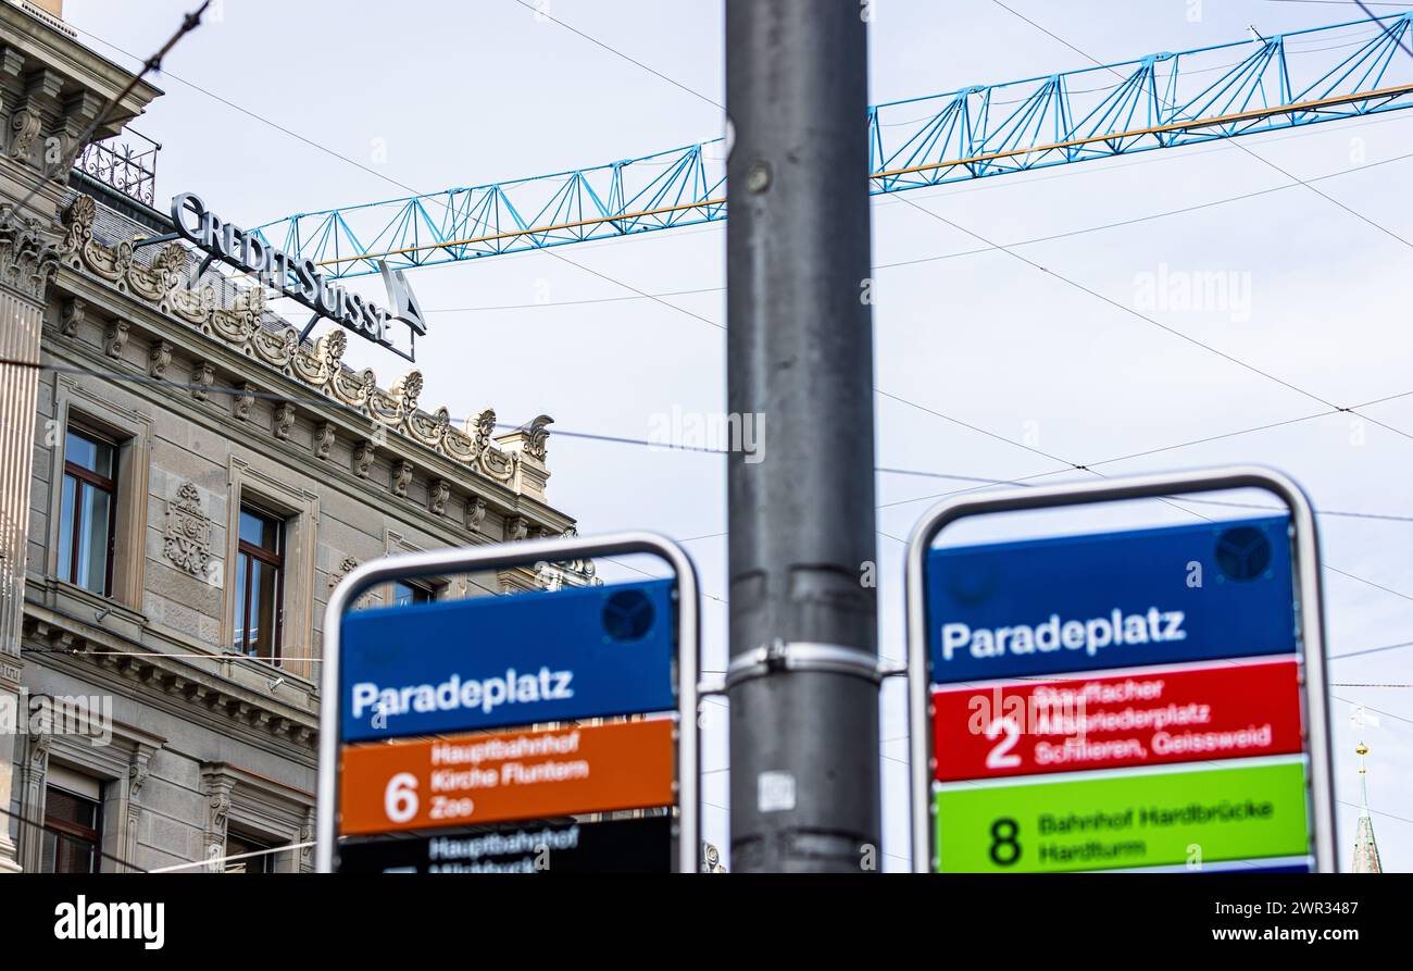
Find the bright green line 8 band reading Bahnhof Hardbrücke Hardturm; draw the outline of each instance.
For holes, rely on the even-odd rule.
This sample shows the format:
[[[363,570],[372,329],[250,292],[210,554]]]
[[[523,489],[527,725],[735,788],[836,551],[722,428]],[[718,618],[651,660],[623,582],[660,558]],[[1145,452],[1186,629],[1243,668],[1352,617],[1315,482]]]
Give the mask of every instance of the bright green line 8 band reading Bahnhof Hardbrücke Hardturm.
[[[1301,759],[959,786],[934,799],[942,873],[1125,869],[1310,852]]]

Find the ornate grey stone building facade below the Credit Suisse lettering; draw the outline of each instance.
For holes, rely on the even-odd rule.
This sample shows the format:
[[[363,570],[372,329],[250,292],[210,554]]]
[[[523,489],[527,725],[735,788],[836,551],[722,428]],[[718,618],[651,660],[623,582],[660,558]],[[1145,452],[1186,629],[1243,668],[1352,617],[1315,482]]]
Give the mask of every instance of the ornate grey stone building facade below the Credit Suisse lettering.
[[[345,331],[301,342],[257,286],[140,245],[161,213],[42,181],[45,146],[76,153],[129,81],[0,3],[0,872],[304,871],[332,588],[384,554],[574,522],[545,498],[547,417],[455,424],[417,370],[384,389],[343,362]],[[93,137],[158,95],[138,83]],[[363,604],[565,582],[592,567]]]

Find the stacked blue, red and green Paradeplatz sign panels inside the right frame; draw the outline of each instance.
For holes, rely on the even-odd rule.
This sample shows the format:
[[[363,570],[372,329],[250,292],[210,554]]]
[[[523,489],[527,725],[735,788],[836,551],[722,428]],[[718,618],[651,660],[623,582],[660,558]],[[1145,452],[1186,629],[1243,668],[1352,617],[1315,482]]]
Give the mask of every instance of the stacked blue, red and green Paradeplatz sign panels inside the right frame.
[[[930,547],[930,869],[1323,865],[1291,519]]]

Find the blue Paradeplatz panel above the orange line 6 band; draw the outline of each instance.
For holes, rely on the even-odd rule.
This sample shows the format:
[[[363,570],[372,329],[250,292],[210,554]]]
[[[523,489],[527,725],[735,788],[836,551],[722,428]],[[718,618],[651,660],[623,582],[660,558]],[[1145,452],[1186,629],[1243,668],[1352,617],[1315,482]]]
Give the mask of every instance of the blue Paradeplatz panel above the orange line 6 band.
[[[345,742],[673,708],[675,581],[355,611]]]

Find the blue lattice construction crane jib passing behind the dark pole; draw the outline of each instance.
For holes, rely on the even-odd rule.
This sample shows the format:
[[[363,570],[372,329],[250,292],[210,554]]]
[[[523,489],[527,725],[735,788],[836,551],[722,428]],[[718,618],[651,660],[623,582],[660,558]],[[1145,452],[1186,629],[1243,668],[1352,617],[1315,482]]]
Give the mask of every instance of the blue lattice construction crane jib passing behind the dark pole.
[[[870,191],[1293,129],[1413,106],[1413,11],[876,105]],[[1406,48],[1405,51],[1400,51]],[[261,239],[326,277],[726,218],[721,139],[642,158],[297,213]]]

